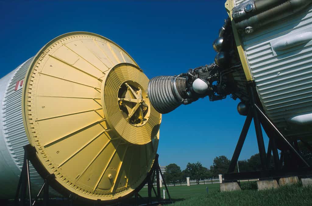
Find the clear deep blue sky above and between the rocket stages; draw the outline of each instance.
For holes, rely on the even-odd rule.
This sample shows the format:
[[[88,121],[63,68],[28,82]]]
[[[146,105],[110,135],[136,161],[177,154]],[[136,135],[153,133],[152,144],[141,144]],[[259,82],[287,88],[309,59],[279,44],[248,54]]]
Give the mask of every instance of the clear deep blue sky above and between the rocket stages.
[[[152,78],[209,64],[227,13],[217,1],[0,1],[0,77],[32,57],[51,39],[71,31],[103,35],[124,48]],[[216,156],[232,158],[245,121],[238,100],[199,99],[163,115],[159,163],[210,167]],[[253,123],[252,123],[253,124]],[[265,136],[267,147],[268,138]],[[241,159],[258,153],[253,125]]]

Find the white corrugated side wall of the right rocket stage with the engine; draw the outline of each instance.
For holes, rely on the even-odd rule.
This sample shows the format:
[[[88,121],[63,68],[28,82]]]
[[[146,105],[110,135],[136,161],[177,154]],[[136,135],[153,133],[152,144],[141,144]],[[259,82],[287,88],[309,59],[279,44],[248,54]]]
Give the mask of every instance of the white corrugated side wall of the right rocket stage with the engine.
[[[286,136],[311,136],[310,128],[296,128],[288,119],[312,112],[312,41],[282,51],[272,45],[304,32],[312,32],[311,7],[243,38],[262,105]]]

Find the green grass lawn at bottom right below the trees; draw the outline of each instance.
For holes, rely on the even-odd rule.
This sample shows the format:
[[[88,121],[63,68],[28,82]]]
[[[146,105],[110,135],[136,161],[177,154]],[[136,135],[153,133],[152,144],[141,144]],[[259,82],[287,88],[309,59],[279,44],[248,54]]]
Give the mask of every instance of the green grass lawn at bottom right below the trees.
[[[208,187],[208,194],[206,187]],[[261,191],[256,190],[256,182],[242,182],[240,191],[220,192],[219,187],[219,184],[170,186],[168,190],[174,201],[170,206],[312,205],[312,187],[303,187],[300,183]],[[143,188],[139,194],[147,197],[147,188]],[[153,191],[152,195],[154,195]],[[168,198],[167,194],[166,198]]]

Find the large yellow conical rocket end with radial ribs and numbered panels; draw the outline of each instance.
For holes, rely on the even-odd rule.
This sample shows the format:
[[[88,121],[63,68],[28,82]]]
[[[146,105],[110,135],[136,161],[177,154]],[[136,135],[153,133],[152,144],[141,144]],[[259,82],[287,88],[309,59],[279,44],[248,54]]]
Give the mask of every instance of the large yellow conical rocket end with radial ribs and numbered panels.
[[[128,53],[97,34],[63,34],[34,57],[22,94],[25,130],[42,167],[68,193],[116,200],[150,171],[161,115],[149,108],[142,126],[116,118],[119,86],[126,81],[137,81],[142,90],[148,84]]]

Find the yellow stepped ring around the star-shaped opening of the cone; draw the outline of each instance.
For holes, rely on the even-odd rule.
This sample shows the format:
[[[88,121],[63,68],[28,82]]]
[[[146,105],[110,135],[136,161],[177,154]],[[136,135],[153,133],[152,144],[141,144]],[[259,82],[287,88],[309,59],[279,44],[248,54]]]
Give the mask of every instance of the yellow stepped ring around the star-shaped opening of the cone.
[[[122,136],[122,138],[132,144],[147,144],[157,134],[159,130],[161,115],[153,108],[149,107],[149,114],[142,125],[132,125],[124,118],[124,112],[118,103],[118,91],[125,82],[131,81],[141,86],[144,99],[147,98],[147,86],[149,79],[136,66],[131,64],[116,65],[104,79],[102,84],[102,104],[105,117],[111,128]]]

